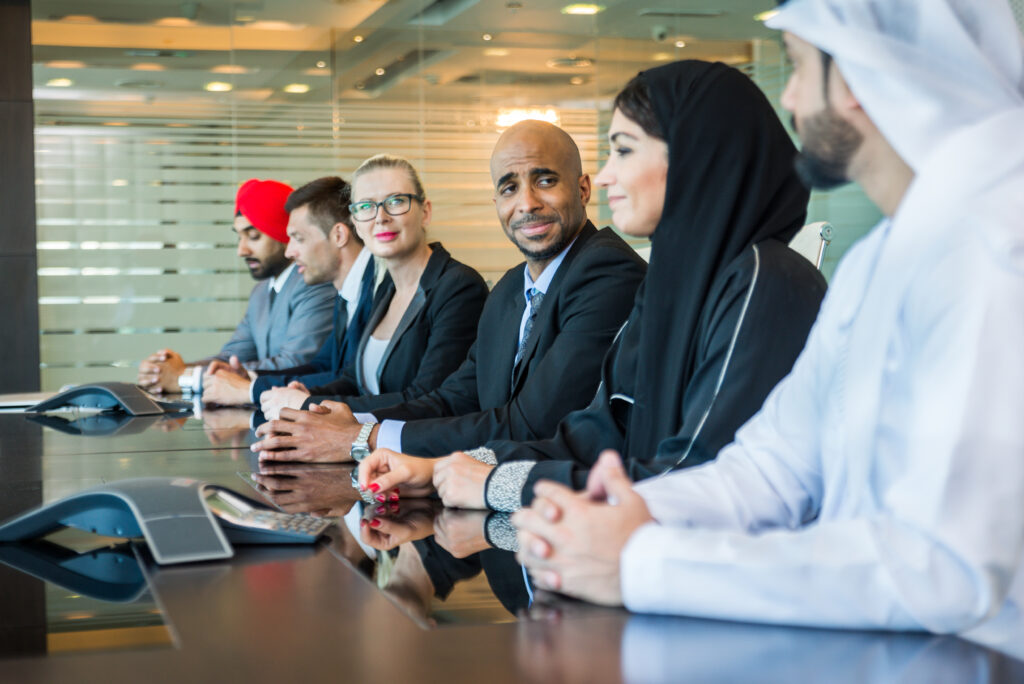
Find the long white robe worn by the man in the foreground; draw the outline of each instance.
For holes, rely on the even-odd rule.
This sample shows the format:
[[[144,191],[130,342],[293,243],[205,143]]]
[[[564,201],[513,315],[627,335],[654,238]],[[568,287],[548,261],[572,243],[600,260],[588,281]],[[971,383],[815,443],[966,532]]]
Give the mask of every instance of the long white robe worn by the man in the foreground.
[[[793,372],[734,443],[637,485],[659,524],[623,553],[627,607],[933,632],[1019,622],[1024,154],[1007,141],[1021,121],[944,141],[844,259]]]

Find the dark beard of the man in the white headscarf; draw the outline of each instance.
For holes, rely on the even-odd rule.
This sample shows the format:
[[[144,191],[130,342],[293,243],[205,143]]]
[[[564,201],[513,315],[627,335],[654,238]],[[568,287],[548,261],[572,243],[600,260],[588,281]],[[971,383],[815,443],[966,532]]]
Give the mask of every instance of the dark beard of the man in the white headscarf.
[[[803,120],[798,131],[803,143],[797,155],[797,174],[811,189],[830,190],[850,182],[850,160],[863,136],[826,108]],[[793,118],[797,130],[797,118]]]

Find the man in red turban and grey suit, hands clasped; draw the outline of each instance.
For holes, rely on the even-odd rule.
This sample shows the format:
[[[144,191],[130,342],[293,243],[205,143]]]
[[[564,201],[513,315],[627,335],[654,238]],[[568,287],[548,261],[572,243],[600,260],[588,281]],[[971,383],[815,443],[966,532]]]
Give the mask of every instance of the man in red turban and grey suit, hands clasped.
[[[335,293],[330,284],[307,286],[286,258],[292,188],[275,180],[248,180],[239,188],[232,229],[239,256],[258,283],[245,317],[213,357],[186,364],[161,349],[139,365],[138,384],[153,392],[201,388],[203,367],[221,361],[236,370],[286,369],[309,360],[331,332]]]

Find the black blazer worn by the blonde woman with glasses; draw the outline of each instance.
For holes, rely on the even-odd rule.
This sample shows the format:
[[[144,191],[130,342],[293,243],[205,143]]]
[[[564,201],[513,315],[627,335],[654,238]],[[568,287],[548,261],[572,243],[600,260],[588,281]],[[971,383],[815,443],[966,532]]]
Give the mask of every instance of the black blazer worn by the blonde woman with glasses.
[[[453,259],[440,243],[432,243],[430,248],[433,253],[420,276],[419,288],[378,368],[381,393],[367,397],[381,405],[420,396],[440,385],[459,368],[476,339],[476,324],[487,297],[487,285],[475,270]],[[311,396],[303,408],[314,401],[334,399],[345,401],[353,411],[366,411],[357,402],[359,395],[366,394],[362,354],[393,297],[394,284],[388,275],[377,289],[355,360],[334,382],[309,388]]]

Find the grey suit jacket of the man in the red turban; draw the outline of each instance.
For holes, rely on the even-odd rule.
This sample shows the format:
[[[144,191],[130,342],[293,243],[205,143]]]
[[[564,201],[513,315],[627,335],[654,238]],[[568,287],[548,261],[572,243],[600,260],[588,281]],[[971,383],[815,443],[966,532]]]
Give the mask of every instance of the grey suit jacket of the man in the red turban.
[[[270,371],[305,364],[334,326],[334,298],[330,283],[306,285],[293,268],[270,306],[269,281],[261,281],[249,295],[249,307],[234,334],[217,354],[237,355],[248,369]]]

